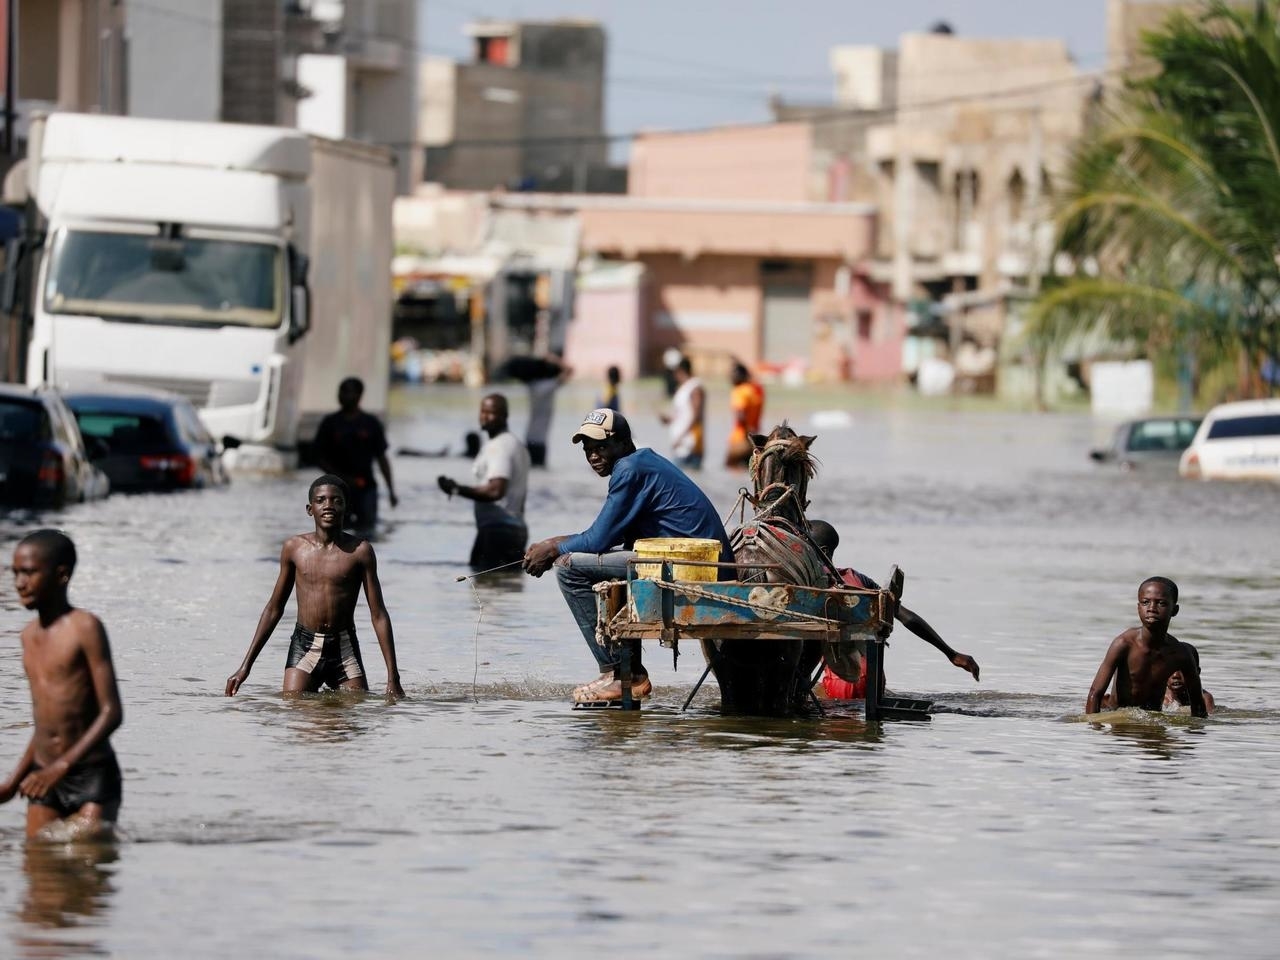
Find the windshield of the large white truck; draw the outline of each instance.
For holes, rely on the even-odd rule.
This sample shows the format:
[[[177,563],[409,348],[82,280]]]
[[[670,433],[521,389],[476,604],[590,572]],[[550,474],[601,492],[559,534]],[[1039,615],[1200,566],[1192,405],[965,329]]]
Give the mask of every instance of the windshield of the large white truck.
[[[45,308],[145,323],[278,326],[280,251],[270,243],[67,230]]]

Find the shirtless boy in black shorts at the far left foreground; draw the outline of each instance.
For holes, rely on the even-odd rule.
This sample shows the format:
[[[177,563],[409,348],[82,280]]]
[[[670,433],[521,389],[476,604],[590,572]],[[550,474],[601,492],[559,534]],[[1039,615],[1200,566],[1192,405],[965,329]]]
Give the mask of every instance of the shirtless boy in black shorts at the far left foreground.
[[[108,737],[124,719],[102,622],[67,599],[76,545],[56,530],[27,535],[13,552],[18,599],[36,618],[22,631],[36,730],[0,804],[22,794],[27,836],[84,840],[110,832],[120,810],[120,767]]]

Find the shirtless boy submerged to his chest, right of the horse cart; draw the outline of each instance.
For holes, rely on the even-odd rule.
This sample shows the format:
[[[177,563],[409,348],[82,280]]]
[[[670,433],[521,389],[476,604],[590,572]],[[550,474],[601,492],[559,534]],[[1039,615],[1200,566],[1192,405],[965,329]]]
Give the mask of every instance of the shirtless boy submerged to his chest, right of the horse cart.
[[[1169,678],[1181,671],[1192,716],[1206,717],[1199,684],[1196,648],[1169,634],[1169,621],[1178,616],[1178,584],[1167,577],[1148,577],[1138,588],[1138,618],[1142,626],[1129,627],[1111,641],[1102,666],[1089,687],[1085,713],[1098,713],[1106,703],[1107,687],[1115,677],[1114,707],[1139,707],[1161,710]]]

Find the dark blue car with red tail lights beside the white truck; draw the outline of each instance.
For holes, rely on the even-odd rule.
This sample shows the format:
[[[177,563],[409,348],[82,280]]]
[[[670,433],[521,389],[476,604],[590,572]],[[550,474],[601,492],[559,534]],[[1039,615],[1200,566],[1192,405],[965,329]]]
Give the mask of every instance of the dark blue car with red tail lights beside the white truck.
[[[100,385],[67,394],[114,490],[173,490],[227,483],[221,445],[191,402],[142,387]]]

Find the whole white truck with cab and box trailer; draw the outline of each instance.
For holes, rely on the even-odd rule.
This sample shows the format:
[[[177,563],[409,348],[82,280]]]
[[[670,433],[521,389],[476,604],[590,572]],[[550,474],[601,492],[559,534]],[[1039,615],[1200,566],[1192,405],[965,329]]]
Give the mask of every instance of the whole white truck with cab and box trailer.
[[[28,384],[180,393],[241,466],[288,465],[346,376],[385,411],[389,151],[83,114],[36,119],[28,145]]]

